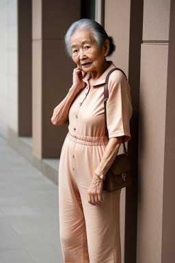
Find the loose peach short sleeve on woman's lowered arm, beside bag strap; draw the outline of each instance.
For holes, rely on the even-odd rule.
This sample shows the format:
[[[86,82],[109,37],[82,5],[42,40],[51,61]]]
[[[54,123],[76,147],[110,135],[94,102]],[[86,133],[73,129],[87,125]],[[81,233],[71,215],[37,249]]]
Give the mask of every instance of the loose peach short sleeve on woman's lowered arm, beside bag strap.
[[[131,139],[130,120],[133,114],[131,88],[121,71],[113,71],[108,82],[107,129],[109,139],[123,136],[122,142]]]

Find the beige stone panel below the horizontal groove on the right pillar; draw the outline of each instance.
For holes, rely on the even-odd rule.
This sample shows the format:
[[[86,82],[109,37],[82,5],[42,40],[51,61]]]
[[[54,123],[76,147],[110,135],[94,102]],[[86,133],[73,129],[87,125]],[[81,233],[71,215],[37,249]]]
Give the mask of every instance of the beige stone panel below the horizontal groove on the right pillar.
[[[161,262],[167,51],[167,44],[142,45],[137,262],[143,263]]]

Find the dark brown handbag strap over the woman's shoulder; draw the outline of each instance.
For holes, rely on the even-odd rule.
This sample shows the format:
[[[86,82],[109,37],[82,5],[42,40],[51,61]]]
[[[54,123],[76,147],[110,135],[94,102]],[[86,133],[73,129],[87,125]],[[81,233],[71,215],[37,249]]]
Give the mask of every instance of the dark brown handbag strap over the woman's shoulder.
[[[109,98],[109,91],[108,91],[108,81],[109,81],[109,75],[113,72],[113,71],[122,71],[121,68],[112,68],[111,71],[109,71],[109,73],[107,73],[107,77],[105,79],[105,87],[104,87],[104,105],[105,105],[105,135],[107,135],[108,139],[109,139],[109,134],[108,134],[108,130],[107,130],[107,100]],[[122,71],[122,73],[124,74],[124,76],[126,77],[125,73]],[[127,80],[127,77],[126,77]],[[125,143],[122,142],[123,145],[123,150],[124,153],[128,154],[127,150],[126,150],[126,146]]]

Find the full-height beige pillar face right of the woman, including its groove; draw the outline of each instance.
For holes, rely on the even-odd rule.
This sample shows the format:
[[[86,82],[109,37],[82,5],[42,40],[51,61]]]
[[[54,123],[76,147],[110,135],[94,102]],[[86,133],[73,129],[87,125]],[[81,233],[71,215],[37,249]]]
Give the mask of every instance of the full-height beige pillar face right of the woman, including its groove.
[[[173,169],[173,160],[171,164],[170,159],[167,159],[170,152],[174,152],[172,147],[170,147],[172,149],[170,152],[167,148],[167,145],[172,146],[173,142],[170,142],[172,138],[167,133],[171,126],[170,121],[167,121],[167,114],[174,116],[174,112],[170,111],[172,101],[170,101],[171,106],[168,105],[168,99],[174,93],[172,82],[169,82],[169,87],[167,86],[169,28],[170,0],[145,0],[139,94],[137,201],[137,262],[142,263],[174,262],[171,255],[168,258],[162,258],[162,253],[165,255],[165,250],[162,251],[162,249],[169,246],[171,247],[169,251],[174,253],[174,245],[171,244],[174,238],[170,240],[167,238],[166,245],[163,241],[163,233],[164,236],[165,232],[170,235],[170,225],[165,225],[165,223],[168,224],[167,216],[174,214],[170,214],[173,206],[165,208],[165,203],[172,204],[172,201],[168,201],[167,177],[170,176],[172,179],[174,177],[168,173],[168,165],[170,165],[170,170]],[[165,188],[164,183],[166,183]],[[168,186],[171,187],[172,184],[173,181],[168,180]],[[171,197],[173,196],[174,193],[171,190]],[[168,212],[167,215],[164,214],[164,210]]]

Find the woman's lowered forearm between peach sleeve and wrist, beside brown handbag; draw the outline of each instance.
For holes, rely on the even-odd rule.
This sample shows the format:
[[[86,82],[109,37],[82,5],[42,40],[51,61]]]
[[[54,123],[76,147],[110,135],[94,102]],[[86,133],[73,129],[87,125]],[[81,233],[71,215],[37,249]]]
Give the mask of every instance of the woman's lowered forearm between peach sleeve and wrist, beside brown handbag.
[[[113,137],[109,139],[105,152],[103,153],[103,158],[95,170],[96,175],[102,175],[103,178],[105,177],[105,174],[115,160],[116,155],[118,155],[118,150],[122,143],[122,137],[123,136]]]

